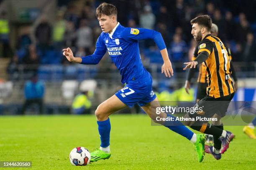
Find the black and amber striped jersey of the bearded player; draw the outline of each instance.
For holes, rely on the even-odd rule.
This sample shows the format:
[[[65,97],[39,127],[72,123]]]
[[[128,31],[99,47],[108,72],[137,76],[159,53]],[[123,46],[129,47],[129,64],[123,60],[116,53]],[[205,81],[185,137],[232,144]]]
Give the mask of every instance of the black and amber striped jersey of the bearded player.
[[[208,77],[207,96],[223,97],[234,92],[230,77],[230,57],[223,42],[218,37],[206,35],[198,45],[198,54],[206,51],[209,57],[204,62]]]

